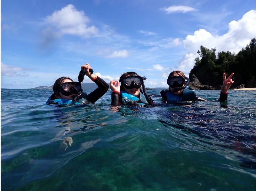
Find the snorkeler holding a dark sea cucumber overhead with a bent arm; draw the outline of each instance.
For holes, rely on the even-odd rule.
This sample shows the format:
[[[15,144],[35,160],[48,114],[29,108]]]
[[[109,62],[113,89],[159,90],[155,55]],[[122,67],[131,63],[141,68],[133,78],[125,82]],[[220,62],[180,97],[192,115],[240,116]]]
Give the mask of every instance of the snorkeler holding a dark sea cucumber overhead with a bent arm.
[[[81,86],[81,82],[84,80],[84,75],[88,76],[98,86],[98,88],[88,95],[84,93]],[[81,66],[81,72],[79,73],[78,80],[79,82],[73,81],[68,77],[61,77],[57,79],[52,86],[54,93],[49,97],[45,104],[66,105],[95,103],[108,91],[108,84],[99,76],[94,74],[92,67],[87,63]]]

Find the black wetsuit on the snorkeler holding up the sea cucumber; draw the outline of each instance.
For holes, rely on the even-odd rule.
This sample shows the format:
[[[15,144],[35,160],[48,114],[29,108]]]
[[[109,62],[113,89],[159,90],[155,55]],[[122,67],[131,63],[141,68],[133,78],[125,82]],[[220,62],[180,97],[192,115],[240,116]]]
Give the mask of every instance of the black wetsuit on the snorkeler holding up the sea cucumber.
[[[88,95],[86,93],[83,93],[82,98],[86,99],[84,103],[95,103],[98,99],[100,99],[100,97],[102,97],[108,91],[109,85],[104,80],[102,80],[99,76],[97,76],[97,78],[93,80],[93,82],[97,84],[98,88],[96,88],[93,92],[91,92]],[[58,104],[53,102],[51,103],[51,100],[55,100],[55,99],[57,99],[55,97],[55,94],[52,94],[51,99],[48,99],[46,104],[47,105]]]

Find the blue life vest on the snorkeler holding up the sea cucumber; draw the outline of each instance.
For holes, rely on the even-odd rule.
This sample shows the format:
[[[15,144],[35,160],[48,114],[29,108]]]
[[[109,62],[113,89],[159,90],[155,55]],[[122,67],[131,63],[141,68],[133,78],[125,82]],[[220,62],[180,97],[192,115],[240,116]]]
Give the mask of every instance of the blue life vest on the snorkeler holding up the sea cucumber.
[[[77,105],[77,104],[89,104],[91,102],[89,102],[88,100],[85,99],[85,96],[87,96],[85,93],[83,94],[83,98],[77,100],[77,102],[73,101],[73,100],[69,100],[69,99],[54,99],[55,95],[52,94],[49,99],[47,100],[46,103],[44,103],[44,105],[50,105],[50,104],[56,104],[56,105]]]

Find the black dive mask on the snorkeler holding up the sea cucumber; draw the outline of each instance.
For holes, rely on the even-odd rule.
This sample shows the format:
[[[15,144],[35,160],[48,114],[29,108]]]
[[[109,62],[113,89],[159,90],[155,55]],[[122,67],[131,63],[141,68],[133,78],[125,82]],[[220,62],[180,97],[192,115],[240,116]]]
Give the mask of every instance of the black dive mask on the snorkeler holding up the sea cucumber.
[[[60,86],[59,92],[64,96],[70,96],[72,94],[78,94],[82,90],[81,83],[77,81],[66,82]]]

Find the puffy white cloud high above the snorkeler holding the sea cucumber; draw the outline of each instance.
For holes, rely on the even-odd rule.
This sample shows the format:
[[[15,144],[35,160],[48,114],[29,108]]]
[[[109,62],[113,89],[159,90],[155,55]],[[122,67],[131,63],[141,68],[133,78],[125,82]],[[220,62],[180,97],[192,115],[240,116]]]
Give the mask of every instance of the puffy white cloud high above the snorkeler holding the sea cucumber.
[[[52,15],[44,19],[44,24],[51,27],[53,31],[82,37],[89,37],[98,33],[98,29],[95,26],[88,27],[89,22],[90,19],[84,14],[84,11],[77,11],[72,4],[59,11],[54,11]]]

